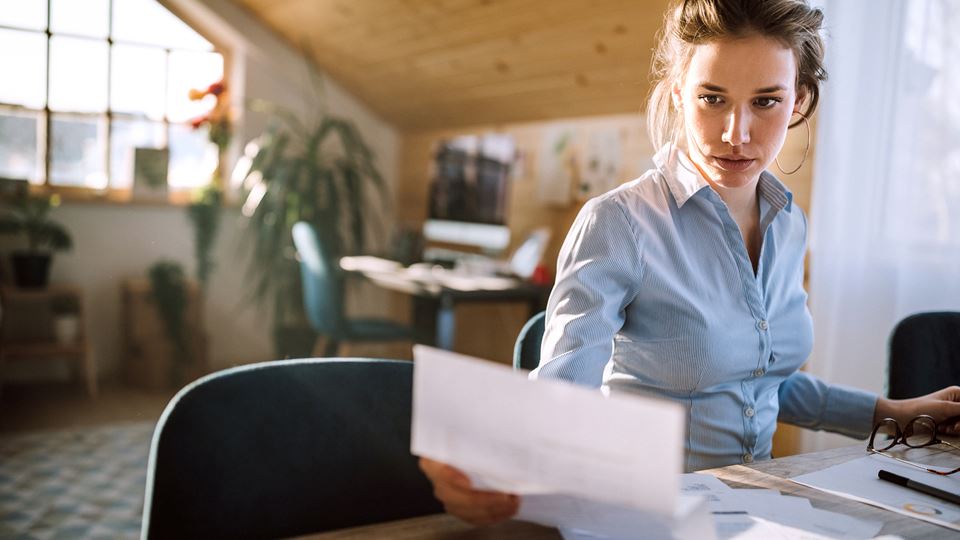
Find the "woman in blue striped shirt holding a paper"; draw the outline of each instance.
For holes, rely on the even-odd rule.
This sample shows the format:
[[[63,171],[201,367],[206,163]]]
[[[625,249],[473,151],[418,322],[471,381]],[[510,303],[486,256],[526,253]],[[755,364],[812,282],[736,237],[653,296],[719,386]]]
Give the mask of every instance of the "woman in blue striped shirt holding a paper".
[[[864,438],[886,417],[960,416],[956,387],[894,401],[798,371],[807,222],[766,169],[816,108],[822,19],[804,0],[671,9],[647,111],[657,168],[589,201],[560,252],[531,376],[684,404],[688,471],[768,459],[778,419]],[[517,511],[516,496],[421,466],[466,521]]]

